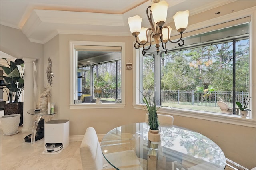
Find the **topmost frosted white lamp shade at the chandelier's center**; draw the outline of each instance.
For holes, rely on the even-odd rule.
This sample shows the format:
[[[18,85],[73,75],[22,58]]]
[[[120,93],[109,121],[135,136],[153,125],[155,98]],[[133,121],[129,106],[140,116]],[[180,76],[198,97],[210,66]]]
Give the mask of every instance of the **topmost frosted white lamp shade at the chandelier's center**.
[[[169,4],[167,4],[167,2],[165,1],[160,1],[158,3],[152,4],[151,11],[155,23],[158,23],[160,21],[166,21],[168,6]]]

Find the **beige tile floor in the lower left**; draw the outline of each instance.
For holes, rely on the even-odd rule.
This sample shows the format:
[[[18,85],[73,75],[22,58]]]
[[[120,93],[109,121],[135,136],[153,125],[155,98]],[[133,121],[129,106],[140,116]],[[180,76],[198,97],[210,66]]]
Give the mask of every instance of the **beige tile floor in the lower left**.
[[[3,115],[1,111],[1,116]],[[28,135],[19,133],[4,136],[0,130],[0,169],[1,170],[82,170],[79,147],[81,142],[70,142],[67,148],[58,154],[42,154],[44,138],[27,143]]]

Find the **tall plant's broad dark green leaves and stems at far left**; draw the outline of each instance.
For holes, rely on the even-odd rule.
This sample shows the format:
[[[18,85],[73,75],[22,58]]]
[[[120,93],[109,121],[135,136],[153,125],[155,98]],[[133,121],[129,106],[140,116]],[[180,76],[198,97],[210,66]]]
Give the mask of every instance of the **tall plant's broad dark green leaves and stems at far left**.
[[[6,58],[2,59],[6,60],[6,62],[8,63]],[[16,59],[15,62],[10,61],[8,65],[9,67],[1,66],[1,68],[6,73],[6,76],[1,76],[5,81],[5,83],[3,83],[2,85],[6,86],[9,90],[9,103],[19,103],[19,98],[24,88],[24,61],[22,59]],[[21,66],[21,71],[19,71],[17,67],[18,65]]]

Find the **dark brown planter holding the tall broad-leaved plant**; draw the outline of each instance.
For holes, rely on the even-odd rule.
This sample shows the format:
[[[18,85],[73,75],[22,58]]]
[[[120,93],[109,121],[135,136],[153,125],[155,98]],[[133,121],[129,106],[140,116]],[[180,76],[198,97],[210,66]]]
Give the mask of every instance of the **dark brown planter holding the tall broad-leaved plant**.
[[[23,102],[4,104],[4,115],[20,114],[19,126],[23,124]]]

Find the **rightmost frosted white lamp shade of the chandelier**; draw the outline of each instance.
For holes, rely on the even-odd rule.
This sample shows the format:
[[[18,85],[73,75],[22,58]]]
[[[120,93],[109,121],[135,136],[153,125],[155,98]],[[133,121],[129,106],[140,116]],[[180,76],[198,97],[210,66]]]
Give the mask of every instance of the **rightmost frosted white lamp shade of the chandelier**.
[[[172,17],[175,22],[176,29],[187,28],[188,26],[189,11],[179,11]]]

